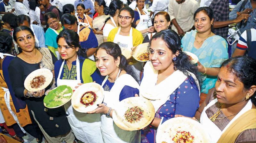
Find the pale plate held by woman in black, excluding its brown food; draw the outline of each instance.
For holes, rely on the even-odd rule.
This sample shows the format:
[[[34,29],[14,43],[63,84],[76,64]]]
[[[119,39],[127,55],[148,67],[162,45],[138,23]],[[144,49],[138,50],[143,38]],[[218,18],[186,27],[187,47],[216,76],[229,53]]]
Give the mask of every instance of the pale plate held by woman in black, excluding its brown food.
[[[39,86],[38,88],[33,88],[31,87],[31,81],[35,78],[35,77],[38,77],[38,76],[44,76],[45,77],[45,82]],[[34,72],[31,72],[27,78],[25,79],[24,81],[24,87],[28,90],[28,91],[33,91],[33,92],[36,92],[36,91],[40,91],[40,90],[43,90],[45,89],[46,87],[49,86],[49,84],[52,82],[52,72],[49,70],[49,69],[38,69]]]

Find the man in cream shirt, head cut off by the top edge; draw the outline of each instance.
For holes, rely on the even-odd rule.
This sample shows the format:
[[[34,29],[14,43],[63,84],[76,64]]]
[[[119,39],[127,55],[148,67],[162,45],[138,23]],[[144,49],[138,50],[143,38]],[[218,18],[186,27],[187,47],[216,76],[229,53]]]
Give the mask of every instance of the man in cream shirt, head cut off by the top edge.
[[[199,8],[195,0],[170,0],[168,13],[172,21],[172,30],[184,36],[194,26],[194,13]]]

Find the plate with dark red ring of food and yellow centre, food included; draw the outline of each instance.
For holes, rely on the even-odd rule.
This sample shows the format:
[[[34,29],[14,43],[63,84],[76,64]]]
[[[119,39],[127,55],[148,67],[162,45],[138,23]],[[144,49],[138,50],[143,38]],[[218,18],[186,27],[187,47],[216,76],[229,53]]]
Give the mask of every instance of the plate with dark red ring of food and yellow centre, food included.
[[[98,108],[104,95],[103,88],[97,83],[85,83],[79,86],[72,95],[71,104],[73,108],[81,113],[87,113]]]

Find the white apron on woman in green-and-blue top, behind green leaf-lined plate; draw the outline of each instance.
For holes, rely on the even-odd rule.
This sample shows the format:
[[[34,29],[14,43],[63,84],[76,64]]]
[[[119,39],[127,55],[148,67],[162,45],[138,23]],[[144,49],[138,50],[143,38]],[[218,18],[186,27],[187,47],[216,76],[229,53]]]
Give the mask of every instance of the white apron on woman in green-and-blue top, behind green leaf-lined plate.
[[[57,79],[57,86],[67,85],[75,89],[80,80],[80,64],[78,57],[76,58],[76,76],[77,80],[60,79],[60,74],[63,69],[65,60],[63,60],[59,76]],[[77,139],[84,143],[103,143],[100,132],[100,114],[86,114],[77,112],[71,105],[71,100],[64,105],[66,113],[68,114],[68,122]],[[93,130],[92,130],[93,129]]]

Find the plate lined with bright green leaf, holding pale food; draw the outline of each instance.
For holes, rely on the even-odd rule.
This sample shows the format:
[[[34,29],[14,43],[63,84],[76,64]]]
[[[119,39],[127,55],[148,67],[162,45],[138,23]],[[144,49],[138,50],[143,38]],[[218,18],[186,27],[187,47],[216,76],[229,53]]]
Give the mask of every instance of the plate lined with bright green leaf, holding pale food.
[[[62,85],[53,88],[48,95],[44,96],[44,106],[47,108],[58,108],[71,100],[73,89]]]

